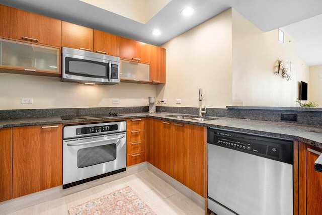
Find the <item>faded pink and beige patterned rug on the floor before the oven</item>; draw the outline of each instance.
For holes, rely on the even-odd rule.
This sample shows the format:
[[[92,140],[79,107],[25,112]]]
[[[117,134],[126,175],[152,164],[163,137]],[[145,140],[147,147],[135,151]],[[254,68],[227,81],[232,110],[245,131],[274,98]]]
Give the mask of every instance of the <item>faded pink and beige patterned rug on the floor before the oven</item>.
[[[101,196],[83,204],[71,207],[71,215],[78,214],[146,214],[156,213],[134,192],[131,187],[124,187],[110,194]]]

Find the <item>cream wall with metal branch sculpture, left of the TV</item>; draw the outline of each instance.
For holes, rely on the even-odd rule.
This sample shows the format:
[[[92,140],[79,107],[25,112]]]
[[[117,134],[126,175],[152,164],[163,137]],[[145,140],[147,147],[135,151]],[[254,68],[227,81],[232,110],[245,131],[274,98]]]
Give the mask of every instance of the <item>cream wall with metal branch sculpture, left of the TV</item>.
[[[282,44],[278,29],[262,32],[232,10],[232,103],[237,106],[295,107],[297,79],[295,42],[284,32]],[[291,80],[274,75],[278,59],[292,61]]]

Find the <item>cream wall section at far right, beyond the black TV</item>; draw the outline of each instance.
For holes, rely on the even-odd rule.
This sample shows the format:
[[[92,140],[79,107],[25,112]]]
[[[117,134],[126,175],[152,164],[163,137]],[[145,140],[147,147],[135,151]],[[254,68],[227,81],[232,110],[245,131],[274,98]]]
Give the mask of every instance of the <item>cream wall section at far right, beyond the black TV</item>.
[[[319,77],[322,74],[322,65],[310,66],[310,82],[308,84],[308,90],[310,97],[308,101],[314,102],[318,107],[322,107],[322,78]]]

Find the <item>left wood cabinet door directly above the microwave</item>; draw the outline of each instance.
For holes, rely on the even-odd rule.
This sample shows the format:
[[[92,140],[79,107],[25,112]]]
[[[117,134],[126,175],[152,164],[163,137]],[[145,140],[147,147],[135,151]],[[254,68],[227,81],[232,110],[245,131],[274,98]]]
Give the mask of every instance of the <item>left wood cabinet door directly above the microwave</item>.
[[[93,29],[62,21],[61,46],[93,51]]]

